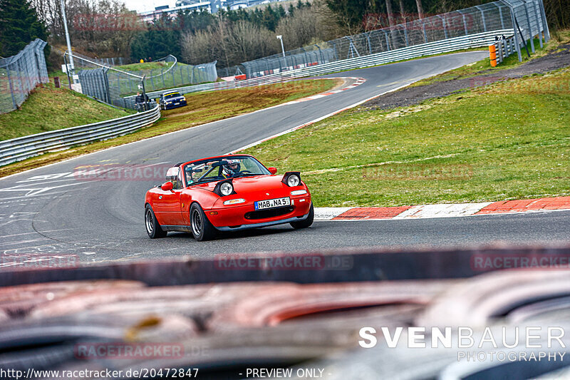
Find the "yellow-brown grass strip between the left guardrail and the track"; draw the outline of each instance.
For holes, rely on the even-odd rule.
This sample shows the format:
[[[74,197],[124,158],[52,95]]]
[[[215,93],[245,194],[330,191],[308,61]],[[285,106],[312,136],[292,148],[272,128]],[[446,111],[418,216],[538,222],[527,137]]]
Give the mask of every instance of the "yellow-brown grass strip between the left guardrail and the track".
[[[46,153],[38,157],[28,158],[28,160],[19,163],[6,165],[0,168],[0,177],[38,168],[78,155],[92,153],[97,150],[132,143],[133,141],[163,135],[175,130],[276,106],[294,99],[328,91],[338,83],[338,80],[333,79],[294,81],[255,88],[188,94],[186,96],[188,106],[162,111],[162,118],[150,127],[142,128],[135,133],[119,138],[83,145],[61,152]]]

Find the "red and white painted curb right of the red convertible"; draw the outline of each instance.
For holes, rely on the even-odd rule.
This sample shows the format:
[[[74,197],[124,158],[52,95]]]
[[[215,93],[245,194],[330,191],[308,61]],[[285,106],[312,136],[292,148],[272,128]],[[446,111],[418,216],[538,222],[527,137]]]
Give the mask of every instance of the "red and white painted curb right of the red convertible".
[[[552,210],[570,210],[570,197],[398,207],[315,207],[315,220],[424,219]]]

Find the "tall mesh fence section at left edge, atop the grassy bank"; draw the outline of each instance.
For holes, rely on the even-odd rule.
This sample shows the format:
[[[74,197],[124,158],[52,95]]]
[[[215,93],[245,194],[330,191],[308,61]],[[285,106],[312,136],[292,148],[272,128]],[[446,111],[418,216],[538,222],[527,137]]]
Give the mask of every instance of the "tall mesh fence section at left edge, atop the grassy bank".
[[[37,38],[15,56],[0,59],[0,113],[14,111],[39,83],[48,83],[45,47]]]

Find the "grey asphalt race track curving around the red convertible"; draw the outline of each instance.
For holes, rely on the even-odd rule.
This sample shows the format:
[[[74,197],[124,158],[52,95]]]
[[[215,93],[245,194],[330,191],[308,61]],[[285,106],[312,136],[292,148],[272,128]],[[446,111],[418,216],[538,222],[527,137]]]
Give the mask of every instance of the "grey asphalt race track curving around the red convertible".
[[[315,222],[308,230],[294,231],[286,225],[224,235],[213,242],[195,242],[189,234],[172,232],[166,239],[150,240],[142,221],[144,196],[148,188],[161,180],[78,181],[66,177],[80,165],[174,164],[227,153],[484,56],[484,52],[457,53],[351,71],[350,76],[366,78],[366,83],[326,98],[221,120],[0,180],[0,255],[69,253],[78,255],[83,262],[101,262],[371,245],[469,245],[493,240],[562,242],[570,232],[570,212]],[[335,76],[342,74],[329,77]],[[43,175],[48,177],[42,178]]]

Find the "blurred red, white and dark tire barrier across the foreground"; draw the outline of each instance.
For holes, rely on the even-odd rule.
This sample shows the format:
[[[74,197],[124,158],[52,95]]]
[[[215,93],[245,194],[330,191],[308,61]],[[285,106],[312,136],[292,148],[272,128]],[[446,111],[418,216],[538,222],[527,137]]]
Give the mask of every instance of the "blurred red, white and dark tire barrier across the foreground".
[[[0,271],[0,284],[6,286],[0,289],[0,310],[7,317],[0,326],[0,368],[199,368],[200,378],[234,379],[243,378],[237,374],[246,368],[292,366],[291,379],[306,378],[307,369],[323,369],[333,380],[518,380],[568,364],[458,359],[465,349],[455,332],[449,347],[432,347],[428,329],[469,327],[475,341],[470,352],[478,357],[490,351],[507,354],[502,347],[489,348],[488,340],[483,346],[477,342],[488,339],[485,327],[494,337],[508,328],[509,344],[513,334],[521,337],[509,350],[540,354],[525,346],[524,326],[570,330],[565,260],[570,247],[299,254],[315,260],[352,257],[350,266],[310,270],[278,269],[276,263],[291,257],[283,254],[247,255],[244,263],[254,262],[250,269],[228,267],[227,259],[238,256],[244,257]],[[479,258],[495,266],[482,270]],[[506,259],[540,263],[544,258],[563,265],[504,267]],[[377,345],[359,347],[362,327],[377,329]],[[403,328],[395,346],[388,346],[380,327],[391,335]],[[425,348],[407,346],[407,327],[426,329],[416,338]],[[546,348],[543,332],[532,343],[551,354],[568,353],[565,347]],[[105,350],[78,356],[78,346]],[[106,350],[140,346],[159,350],[147,356]],[[184,354],[169,356],[163,346],[182,347]]]

